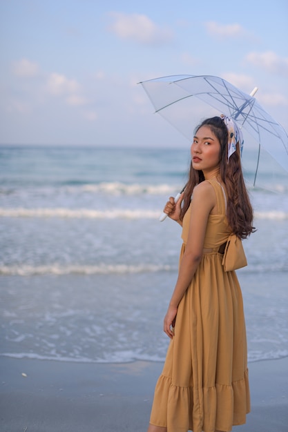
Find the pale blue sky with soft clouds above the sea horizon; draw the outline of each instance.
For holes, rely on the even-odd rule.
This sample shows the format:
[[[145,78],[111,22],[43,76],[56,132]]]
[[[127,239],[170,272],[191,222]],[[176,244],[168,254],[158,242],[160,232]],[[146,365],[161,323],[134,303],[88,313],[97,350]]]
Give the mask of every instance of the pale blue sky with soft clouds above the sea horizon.
[[[182,74],[257,86],[288,130],[287,21],[287,0],[0,0],[0,144],[184,146],[137,84]]]

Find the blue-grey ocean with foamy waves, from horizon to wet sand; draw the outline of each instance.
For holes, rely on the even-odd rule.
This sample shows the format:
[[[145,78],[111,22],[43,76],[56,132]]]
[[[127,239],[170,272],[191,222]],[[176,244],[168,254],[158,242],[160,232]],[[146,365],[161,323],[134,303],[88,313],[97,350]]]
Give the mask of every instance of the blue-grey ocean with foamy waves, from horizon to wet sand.
[[[189,148],[0,146],[0,355],[164,360],[181,228],[159,216],[189,161]],[[263,178],[237,272],[249,362],[288,356],[288,181]]]

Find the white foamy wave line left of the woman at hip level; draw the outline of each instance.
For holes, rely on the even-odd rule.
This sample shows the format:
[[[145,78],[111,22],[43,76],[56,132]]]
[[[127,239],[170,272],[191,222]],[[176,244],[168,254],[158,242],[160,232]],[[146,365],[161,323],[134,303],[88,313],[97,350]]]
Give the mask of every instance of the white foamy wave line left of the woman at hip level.
[[[126,264],[100,264],[99,266],[70,265],[59,266],[50,264],[46,266],[0,266],[0,275],[3,276],[34,276],[34,275],[111,275],[126,273],[156,273],[159,271],[173,271],[169,265],[140,264],[128,266]]]

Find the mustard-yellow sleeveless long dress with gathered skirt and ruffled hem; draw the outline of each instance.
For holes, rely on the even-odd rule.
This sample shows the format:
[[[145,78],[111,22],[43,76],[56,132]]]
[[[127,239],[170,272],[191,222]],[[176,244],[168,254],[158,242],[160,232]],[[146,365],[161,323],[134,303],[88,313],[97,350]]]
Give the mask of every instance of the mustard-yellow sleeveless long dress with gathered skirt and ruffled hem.
[[[150,423],[168,432],[231,431],[250,411],[247,340],[242,293],[235,271],[224,272],[224,244],[231,228],[226,197],[216,179],[217,210],[209,215],[200,264],[178,306],[175,335],[156,387]],[[182,224],[188,238],[191,206]]]

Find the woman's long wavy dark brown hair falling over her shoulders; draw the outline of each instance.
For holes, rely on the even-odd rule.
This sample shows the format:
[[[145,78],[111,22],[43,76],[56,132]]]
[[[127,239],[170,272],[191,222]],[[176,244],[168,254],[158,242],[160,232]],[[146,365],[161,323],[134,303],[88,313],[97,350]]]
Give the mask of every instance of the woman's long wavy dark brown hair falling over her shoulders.
[[[228,161],[228,130],[224,121],[221,117],[206,119],[195,129],[195,133],[202,126],[208,126],[220,141],[220,177],[227,191],[227,221],[232,232],[245,239],[255,231],[255,228],[253,227],[253,209],[242,174],[239,143],[236,146],[236,152],[229,157]],[[195,170],[191,162],[189,180],[184,190],[181,220],[189,208],[193,189],[201,181],[204,181],[202,170]]]

